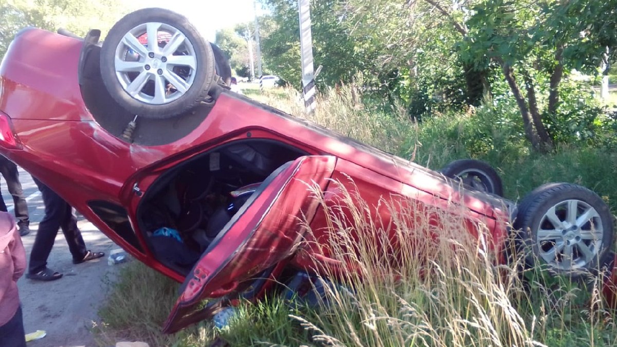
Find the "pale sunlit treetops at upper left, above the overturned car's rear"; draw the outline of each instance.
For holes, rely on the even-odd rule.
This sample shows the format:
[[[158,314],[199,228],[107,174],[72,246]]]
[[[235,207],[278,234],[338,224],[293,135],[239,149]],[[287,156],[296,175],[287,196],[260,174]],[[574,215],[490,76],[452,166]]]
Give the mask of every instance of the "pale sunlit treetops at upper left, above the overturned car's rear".
[[[94,28],[106,33],[128,11],[120,0],[4,0],[0,2],[0,56],[21,28],[65,28],[80,36]]]

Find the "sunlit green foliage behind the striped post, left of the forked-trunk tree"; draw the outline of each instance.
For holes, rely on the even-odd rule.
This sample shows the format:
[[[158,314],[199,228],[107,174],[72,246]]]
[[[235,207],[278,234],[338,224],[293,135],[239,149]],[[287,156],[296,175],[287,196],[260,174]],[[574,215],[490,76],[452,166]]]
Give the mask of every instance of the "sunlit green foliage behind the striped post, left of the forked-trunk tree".
[[[263,40],[264,59],[299,88],[297,2],[263,2],[277,25]],[[315,65],[323,65],[318,85],[360,85],[355,77],[362,75],[365,90],[409,104],[414,117],[462,104],[469,69],[454,52],[461,34],[432,8],[423,1],[311,2],[313,56]]]

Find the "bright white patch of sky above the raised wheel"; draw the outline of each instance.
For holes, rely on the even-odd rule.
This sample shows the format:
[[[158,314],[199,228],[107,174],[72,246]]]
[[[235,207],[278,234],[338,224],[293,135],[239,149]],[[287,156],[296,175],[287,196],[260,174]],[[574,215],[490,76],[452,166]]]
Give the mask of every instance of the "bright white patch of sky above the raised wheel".
[[[162,7],[186,16],[206,40],[222,28],[254,19],[253,0],[125,0],[137,8]],[[257,4],[257,14],[265,11]]]

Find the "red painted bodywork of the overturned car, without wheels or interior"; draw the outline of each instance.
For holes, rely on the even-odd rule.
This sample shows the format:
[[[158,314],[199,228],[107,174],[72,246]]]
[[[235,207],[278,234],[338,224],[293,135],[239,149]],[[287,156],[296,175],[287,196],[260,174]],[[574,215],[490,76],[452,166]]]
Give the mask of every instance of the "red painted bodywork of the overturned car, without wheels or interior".
[[[284,267],[309,269],[315,259],[335,272],[349,270],[331,259],[323,206],[307,183],[323,191],[328,205],[340,203],[341,186],[334,181],[374,207],[384,197],[444,210],[457,204],[467,211],[471,233],[482,223],[496,251],[504,244],[511,212],[508,201],[461,189],[413,162],[224,88],[217,87],[213,103],[197,110],[205,117],[178,138],[161,144],[124,141],[102,127],[85,102],[78,68],[83,64],[83,46],[83,40],[38,29],[16,36],[0,65],[0,150],[136,259],[184,282],[165,325],[167,332],[211,316],[213,307],[193,312],[194,307],[204,298],[237,297],[251,278],[265,270],[273,278]],[[212,164],[212,153],[236,143],[288,148],[286,159],[292,160],[277,165],[189,274],[184,274],[154,254],[149,234],[143,230],[141,202],[149,190],[159,189],[152,187],[164,180],[166,172],[197,162],[205,153],[210,153],[212,170],[217,165]],[[390,219],[391,212],[383,205],[372,211],[374,220],[387,223]],[[300,218],[309,222],[310,236],[305,235]],[[300,243],[304,238],[317,242]]]

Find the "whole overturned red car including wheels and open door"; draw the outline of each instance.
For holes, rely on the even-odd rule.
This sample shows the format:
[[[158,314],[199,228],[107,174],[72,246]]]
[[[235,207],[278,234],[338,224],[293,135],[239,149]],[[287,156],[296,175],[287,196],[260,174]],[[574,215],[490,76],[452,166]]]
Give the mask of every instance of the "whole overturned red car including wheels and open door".
[[[557,272],[612,261],[613,217],[586,188],[545,185],[517,205],[481,162],[434,172],[233,93],[220,49],[168,10],[138,10],[99,36],[15,36],[0,65],[0,152],[184,283],[165,332],[261,298],[290,269],[353,271],[333,260],[315,190],[327,206],[341,186],[356,192],[384,225],[384,198],[455,204],[470,233],[486,225],[495,251],[522,230]],[[215,299],[196,309],[205,298]]]

